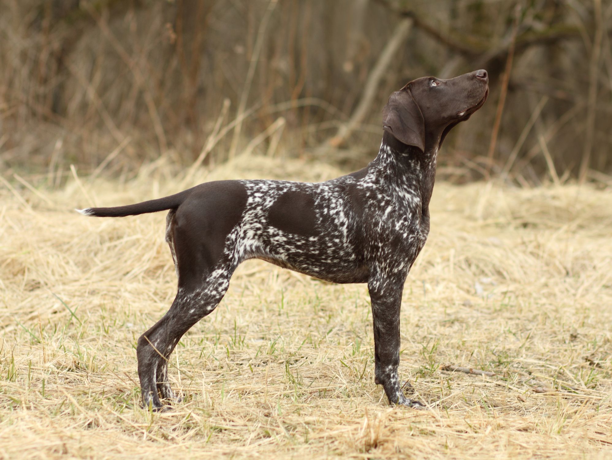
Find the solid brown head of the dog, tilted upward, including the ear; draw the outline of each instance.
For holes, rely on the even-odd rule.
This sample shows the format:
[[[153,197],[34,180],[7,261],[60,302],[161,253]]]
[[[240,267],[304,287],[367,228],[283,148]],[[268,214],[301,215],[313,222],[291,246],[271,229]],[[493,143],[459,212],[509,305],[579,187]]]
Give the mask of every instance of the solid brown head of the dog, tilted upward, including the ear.
[[[389,97],[383,129],[403,144],[425,151],[426,139],[442,144],[449,131],[466,121],[487,100],[486,70],[440,80],[417,78]]]

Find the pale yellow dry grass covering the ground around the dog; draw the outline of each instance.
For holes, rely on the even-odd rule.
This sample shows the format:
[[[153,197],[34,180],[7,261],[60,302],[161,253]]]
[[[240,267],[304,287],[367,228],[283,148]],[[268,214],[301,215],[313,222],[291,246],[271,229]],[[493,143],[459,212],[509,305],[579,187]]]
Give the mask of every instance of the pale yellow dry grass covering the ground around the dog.
[[[401,312],[400,371],[429,411],[373,384],[364,285],[253,261],[172,356],[185,402],[151,414],[134,346],[174,295],[165,215],[72,208],[191,185],[166,171],[0,187],[0,458],[610,458],[610,191],[436,185]],[[337,174],[253,157],[192,180]]]

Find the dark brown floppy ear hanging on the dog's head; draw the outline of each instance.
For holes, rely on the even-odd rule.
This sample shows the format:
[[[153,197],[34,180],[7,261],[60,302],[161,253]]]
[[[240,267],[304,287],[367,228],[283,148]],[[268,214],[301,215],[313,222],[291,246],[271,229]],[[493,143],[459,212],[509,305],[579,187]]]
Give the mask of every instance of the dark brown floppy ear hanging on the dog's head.
[[[425,151],[425,119],[408,85],[390,95],[383,109],[383,130],[401,143]]]

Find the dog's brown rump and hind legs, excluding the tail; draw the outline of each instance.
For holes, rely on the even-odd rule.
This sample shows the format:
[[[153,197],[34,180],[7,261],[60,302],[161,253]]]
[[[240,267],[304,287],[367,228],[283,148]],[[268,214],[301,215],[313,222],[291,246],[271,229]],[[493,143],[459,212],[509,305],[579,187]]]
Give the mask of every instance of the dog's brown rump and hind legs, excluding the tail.
[[[143,403],[160,409],[176,400],[168,383],[168,358],[179,339],[223,299],[239,260],[235,238],[247,201],[237,181],[201,185],[166,217],[166,242],[178,277],[170,310],[138,339]]]

